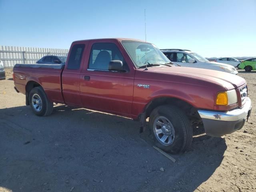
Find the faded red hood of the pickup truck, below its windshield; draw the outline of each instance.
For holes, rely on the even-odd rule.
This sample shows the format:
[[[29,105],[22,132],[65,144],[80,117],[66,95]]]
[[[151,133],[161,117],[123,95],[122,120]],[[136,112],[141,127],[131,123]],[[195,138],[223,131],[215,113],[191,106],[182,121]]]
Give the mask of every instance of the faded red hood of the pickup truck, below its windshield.
[[[191,76],[218,83],[224,86],[227,90],[234,89],[246,84],[244,78],[217,70],[192,68],[192,67],[149,67],[149,72],[162,74],[175,74],[182,76]]]

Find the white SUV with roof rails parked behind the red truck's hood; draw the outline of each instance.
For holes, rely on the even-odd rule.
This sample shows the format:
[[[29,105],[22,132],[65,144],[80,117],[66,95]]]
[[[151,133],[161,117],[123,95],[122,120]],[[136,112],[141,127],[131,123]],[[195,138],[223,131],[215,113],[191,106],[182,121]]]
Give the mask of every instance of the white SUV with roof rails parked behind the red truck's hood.
[[[218,62],[210,62],[206,58],[190,50],[161,49],[161,51],[170,61],[182,67],[203,68],[228,72],[235,75],[238,74],[238,71],[234,66]]]

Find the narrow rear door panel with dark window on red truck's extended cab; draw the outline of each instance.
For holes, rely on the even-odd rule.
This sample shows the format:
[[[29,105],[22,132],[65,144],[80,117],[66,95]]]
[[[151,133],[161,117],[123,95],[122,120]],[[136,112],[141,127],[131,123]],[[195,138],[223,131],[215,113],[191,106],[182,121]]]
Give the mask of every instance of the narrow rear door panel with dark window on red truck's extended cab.
[[[62,92],[66,104],[81,106],[79,76],[84,60],[85,44],[72,44],[62,72]]]

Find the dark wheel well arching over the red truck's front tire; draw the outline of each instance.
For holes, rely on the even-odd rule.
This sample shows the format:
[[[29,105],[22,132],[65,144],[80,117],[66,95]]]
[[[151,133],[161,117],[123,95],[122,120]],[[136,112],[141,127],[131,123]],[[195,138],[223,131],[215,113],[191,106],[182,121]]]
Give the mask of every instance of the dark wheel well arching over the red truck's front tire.
[[[145,117],[148,118],[151,112],[158,106],[161,105],[175,105],[178,108],[182,109],[185,114],[188,116],[191,124],[202,124],[202,119],[198,114],[198,110],[192,106],[191,104],[185,102],[184,100],[180,100],[178,98],[169,98],[169,97],[161,97],[152,100],[145,108]]]

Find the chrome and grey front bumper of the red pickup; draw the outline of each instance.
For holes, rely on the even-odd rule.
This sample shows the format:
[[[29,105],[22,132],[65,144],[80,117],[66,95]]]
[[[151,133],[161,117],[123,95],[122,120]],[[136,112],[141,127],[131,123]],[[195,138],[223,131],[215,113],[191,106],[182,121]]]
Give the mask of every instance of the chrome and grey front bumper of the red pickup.
[[[227,112],[198,110],[198,113],[202,118],[206,134],[220,137],[240,130],[244,126],[247,117],[250,116],[251,108],[251,100],[247,98],[242,108]]]

